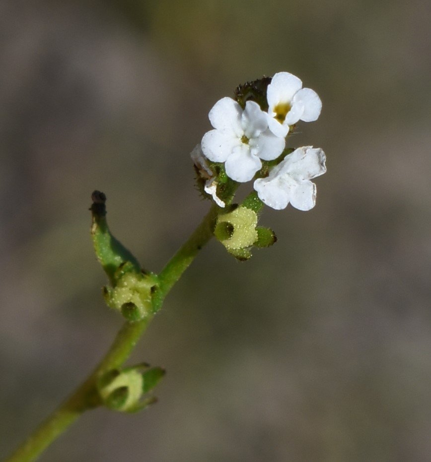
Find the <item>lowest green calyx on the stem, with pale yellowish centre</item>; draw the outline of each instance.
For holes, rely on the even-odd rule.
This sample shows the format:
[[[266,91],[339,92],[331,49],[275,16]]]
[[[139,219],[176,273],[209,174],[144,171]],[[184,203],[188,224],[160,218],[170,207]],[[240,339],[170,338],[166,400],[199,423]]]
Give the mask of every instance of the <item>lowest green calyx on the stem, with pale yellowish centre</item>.
[[[153,404],[157,399],[144,397],[160,382],[165,375],[161,367],[148,369],[148,364],[111,370],[97,381],[97,390],[102,403],[112,410],[136,412]]]

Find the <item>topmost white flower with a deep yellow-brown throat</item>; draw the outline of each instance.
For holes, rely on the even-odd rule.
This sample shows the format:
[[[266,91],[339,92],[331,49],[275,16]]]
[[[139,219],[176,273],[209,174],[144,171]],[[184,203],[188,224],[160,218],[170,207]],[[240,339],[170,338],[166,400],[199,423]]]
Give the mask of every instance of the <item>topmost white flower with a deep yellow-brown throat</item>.
[[[289,125],[298,120],[317,120],[322,102],[310,88],[302,88],[302,82],[289,72],[274,75],[267,90],[268,126],[277,136],[286,136]]]

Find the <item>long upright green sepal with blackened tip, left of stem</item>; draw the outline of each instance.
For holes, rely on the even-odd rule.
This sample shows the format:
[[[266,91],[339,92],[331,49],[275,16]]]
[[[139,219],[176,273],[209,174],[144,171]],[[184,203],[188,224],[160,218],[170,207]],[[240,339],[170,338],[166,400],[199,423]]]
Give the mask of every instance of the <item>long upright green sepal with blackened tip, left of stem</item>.
[[[115,286],[115,274],[121,265],[129,262],[135,272],[141,272],[141,267],[134,255],[109,231],[106,221],[105,194],[94,191],[91,199],[93,201],[90,207],[92,216],[91,236],[94,251],[110,283]]]

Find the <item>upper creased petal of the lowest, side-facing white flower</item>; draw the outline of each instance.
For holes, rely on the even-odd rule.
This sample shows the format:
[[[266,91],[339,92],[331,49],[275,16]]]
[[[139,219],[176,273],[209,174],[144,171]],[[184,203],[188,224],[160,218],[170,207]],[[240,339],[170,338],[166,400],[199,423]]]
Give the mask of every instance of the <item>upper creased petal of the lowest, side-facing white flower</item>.
[[[279,174],[289,174],[295,181],[305,181],[326,172],[326,156],[322,149],[303,146],[295,149],[278,165]]]

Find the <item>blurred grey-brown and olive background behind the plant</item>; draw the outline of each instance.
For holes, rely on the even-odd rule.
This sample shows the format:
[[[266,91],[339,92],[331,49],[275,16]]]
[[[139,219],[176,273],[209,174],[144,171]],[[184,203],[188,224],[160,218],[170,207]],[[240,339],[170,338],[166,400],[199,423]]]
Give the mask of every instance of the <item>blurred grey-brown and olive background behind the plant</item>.
[[[238,263],[216,241],[130,363],[159,403],[88,412],[74,461],[429,461],[430,3],[0,2],[0,459],[122,324],[100,288],[90,195],[158,272],[210,203],[189,153],[239,83],[278,71],[323,101],[292,147],[327,155],[308,212]]]

